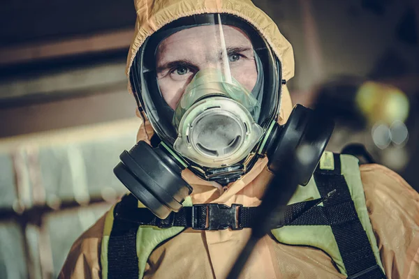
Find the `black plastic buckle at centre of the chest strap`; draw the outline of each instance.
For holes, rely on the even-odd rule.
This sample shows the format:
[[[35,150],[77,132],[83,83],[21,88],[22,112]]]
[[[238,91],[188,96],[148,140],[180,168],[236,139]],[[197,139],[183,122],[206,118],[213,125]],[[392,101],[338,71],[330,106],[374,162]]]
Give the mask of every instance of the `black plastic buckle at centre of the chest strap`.
[[[204,230],[242,229],[239,225],[239,211],[242,204],[193,204],[192,228]],[[204,219],[203,219],[204,218]],[[205,225],[203,225],[205,221]]]

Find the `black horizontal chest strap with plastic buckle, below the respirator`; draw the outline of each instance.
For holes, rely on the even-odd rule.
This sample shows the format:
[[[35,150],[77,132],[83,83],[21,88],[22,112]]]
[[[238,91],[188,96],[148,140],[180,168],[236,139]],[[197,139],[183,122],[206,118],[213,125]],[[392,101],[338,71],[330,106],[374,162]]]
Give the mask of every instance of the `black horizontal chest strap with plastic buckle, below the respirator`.
[[[323,206],[316,206],[324,202],[329,197],[314,199],[308,202],[298,202],[286,206],[284,223],[273,224],[272,229],[284,225],[329,225],[328,219],[323,212]],[[258,213],[258,207],[247,207],[241,204],[193,204],[172,212],[168,218],[161,220],[145,208],[129,206],[134,204],[136,199],[133,195],[128,195],[124,199],[129,202],[120,202],[115,206],[115,216],[119,222],[134,223],[139,225],[166,227],[191,227],[193,229],[218,230],[243,229],[251,227],[254,216]]]

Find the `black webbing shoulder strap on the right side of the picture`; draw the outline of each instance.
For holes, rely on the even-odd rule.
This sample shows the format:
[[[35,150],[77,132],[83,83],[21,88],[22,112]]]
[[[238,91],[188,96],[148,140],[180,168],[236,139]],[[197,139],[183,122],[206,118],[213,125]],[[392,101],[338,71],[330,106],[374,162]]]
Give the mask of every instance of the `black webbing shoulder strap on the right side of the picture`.
[[[358,218],[348,185],[341,175],[340,156],[334,156],[335,169],[319,169],[314,173],[314,179],[321,196],[336,190],[332,199],[323,202],[323,211],[332,227],[348,278],[385,278],[376,262],[367,233]]]

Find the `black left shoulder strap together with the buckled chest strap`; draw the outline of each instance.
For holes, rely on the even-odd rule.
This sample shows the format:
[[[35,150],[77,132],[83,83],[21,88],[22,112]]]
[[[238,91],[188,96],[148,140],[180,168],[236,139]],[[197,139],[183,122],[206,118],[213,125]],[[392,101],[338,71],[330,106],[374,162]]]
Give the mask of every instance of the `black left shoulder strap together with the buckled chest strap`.
[[[309,225],[327,225],[323,211],[317,210],[323,206],[316,206],[327,198],[287,206],[284,223],[273,225],[273,228],[298,225],[301,222],[308,222]],[[126,195],[114,209],[114,223],[108,242],[108,278],[138,279],[136,239],[140,225],[161,228],[242,229],[251,227],[253,216],[257,211],[257,207],[238,204],[233,204],[231,207],[224,204],[194,204],[182,208],[177,213],[173,212],[168,218],[161,220],[149,209],[138,208],[138,201],[133,195]]]

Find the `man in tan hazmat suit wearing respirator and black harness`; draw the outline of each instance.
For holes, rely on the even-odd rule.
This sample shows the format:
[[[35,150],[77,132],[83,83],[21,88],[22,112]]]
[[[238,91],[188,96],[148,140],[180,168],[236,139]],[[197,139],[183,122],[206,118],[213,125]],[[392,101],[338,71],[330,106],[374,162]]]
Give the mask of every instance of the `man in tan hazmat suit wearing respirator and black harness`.
[[[260,204],[271,177],[265,150],[271,149],[268,135],[274,137],[270,128],[291,114],[282,82],[293,77],[291,45],[249,0],[140,0],[135,6],[127,73],[139,114],[147,116],[138,141],[150,143],[156,134],[171,154],[161,155],[161,149],[157,157],[183,165],[183,194],[166,199],[126,171],[135,172],[128,159],[144,169],[163,161],[146,160],[149,149],[135,158],[134,149],[142,148],[135,147],[124,157],[126,168],[120,165],[115,173],[142,204],[171,223],[144,220],[149,210],[138,211],[144,206],[128,195],[74,243],[60,278],[226,278],[251,229],[211,229],[205,218],[201,225],[176,225],[170,212],[198,209],[193,204]],[[131,187],[130,175],[140,186]],[[155,187],[163,185],[163,175],[143,173]],[[338,194],[324,199],[335,188]],[[272,229],[258,241],[240,278],[419,278],[419,195],[400,176],[325,153],[314,178],[288,204],[318,198],[323,205],[314,211],[327,220],[300,218],[300,225],[295,219]],[[342,204],[353,211],[344,212]],[[367,262],[372,264],[363,266]]]

